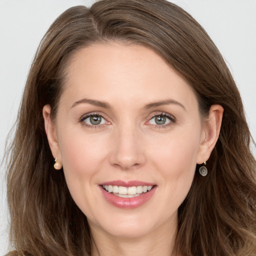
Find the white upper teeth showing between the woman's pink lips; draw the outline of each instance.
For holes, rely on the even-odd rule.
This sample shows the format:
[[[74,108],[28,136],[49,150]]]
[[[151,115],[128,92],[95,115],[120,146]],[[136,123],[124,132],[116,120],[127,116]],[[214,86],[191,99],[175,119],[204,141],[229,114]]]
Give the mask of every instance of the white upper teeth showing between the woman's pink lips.
[[[113,195],[131,198],[146,193],[152,189],[153,186],[116,186],[116,185],[102,185],[103,189]]]

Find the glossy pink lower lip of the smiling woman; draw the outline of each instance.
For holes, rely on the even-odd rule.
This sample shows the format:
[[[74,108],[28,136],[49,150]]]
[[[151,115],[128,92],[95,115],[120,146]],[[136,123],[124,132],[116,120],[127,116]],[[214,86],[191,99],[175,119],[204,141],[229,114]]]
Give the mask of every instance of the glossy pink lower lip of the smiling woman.
[[[112,205],[118,208],[123,208],[123,209],[133,209],[133,208],[139,207],[140,205],[148,201],[154,194],[156,186],[154,185],[152,189],[147,191],[146,193],[142,193],[138,196],[129,197],[129,198],[128,197],[123,198],[123,197],[119,197],[117,195],[108,193],[105,189],[103,189],[102,186],[100,186],[100,188],[105,199]]]

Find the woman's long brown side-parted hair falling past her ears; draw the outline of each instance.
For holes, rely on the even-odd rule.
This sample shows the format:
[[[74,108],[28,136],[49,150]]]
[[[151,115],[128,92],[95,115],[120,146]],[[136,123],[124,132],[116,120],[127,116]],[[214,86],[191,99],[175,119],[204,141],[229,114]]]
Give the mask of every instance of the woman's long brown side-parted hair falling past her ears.
[[[195,172],[178,209],[173,253],[182,256],[256,254],[255,159],[234,80],[204,29],[165,0],[100,0],[67,9],[43,37],[27,77],[15,137],[8,148],[7,197],[13,255],[90,255],[86,216],[72,200],[62,171],[55,171],[42,107],[57,112],[71,55],[97,42],[151,48],[193,88],[202,116],[224,108],[219,139]]]

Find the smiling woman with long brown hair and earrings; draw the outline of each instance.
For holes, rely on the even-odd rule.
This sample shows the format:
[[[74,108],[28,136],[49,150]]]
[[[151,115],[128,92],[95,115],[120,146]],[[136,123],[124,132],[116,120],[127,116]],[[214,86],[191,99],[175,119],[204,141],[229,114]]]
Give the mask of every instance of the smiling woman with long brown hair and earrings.
[[[232,76],[184,10],[72,7],[41,41],[9,148],[9,254],[255,255],[249,144]]]

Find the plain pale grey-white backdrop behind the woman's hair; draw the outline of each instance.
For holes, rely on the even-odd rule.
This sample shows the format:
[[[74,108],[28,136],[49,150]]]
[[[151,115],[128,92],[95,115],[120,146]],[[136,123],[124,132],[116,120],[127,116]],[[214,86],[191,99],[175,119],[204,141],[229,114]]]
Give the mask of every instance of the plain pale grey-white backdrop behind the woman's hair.
[[[0,0],[0,159],[17,113],[32,57],[53,20],[93,0]],[[256,0],[173,0],[205,28],[240,90],[256,139]],[[235,139],[235,138],[234,138]],[[5,167],[0,166],[0,255],[8,248]]]

